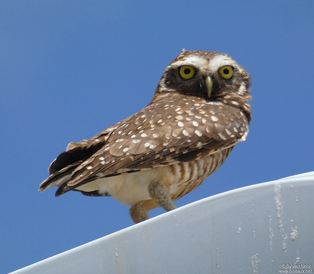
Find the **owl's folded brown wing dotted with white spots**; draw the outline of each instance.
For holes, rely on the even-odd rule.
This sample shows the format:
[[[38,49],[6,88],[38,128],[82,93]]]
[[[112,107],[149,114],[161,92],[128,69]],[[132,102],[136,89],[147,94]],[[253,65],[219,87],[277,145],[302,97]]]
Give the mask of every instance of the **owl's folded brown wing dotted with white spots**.
[[[168,97],[149,104],[105,130],[106,140],[99,150],[83,160],[76,158],[78,161],[68,166],[66,171],[71,175],[56,195],[97,178],[191,161],[233,146],[246,135],[249,118],[241,108],[197,97],[192,101],[186,98]],[[95,139],[100,139],[97,136],[83,142],[92,147]],[[68,153],[78,149],[78,144]],[[41,189],[54,181],[49,178]]]

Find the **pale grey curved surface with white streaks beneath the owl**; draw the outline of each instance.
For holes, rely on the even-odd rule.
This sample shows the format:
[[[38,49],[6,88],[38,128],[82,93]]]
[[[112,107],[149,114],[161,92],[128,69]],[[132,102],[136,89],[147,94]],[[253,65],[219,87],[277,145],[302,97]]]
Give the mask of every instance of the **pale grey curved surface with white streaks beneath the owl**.
[[[182,206],[12,273],[279,273],[314,268],[314,172]],[[285,268],[288,269],[288,268]]]

